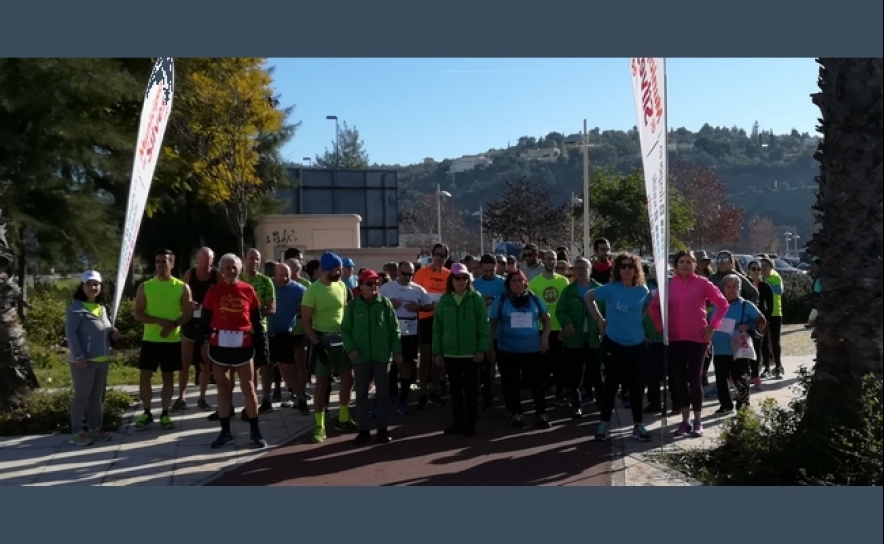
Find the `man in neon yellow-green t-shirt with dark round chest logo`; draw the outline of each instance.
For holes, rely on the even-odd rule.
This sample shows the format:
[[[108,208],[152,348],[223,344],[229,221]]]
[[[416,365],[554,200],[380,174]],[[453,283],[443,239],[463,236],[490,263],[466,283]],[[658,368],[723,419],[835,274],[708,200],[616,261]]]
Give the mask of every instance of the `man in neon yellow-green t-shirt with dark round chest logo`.
[[[556,318],[556,305],[562,296],[562,291],[568,287],[568,278],[556,274],[556,253],[546,250],[542,253],[543,271],[528,282],[528,288],[543,300],[549,309],[550,335],[549,351],[543,355],[545,369],[543,375],[545,386],[549,389],[556,386],[556,404],[568,406],[565,398],[565,371],[562,366],[562,326]]]

